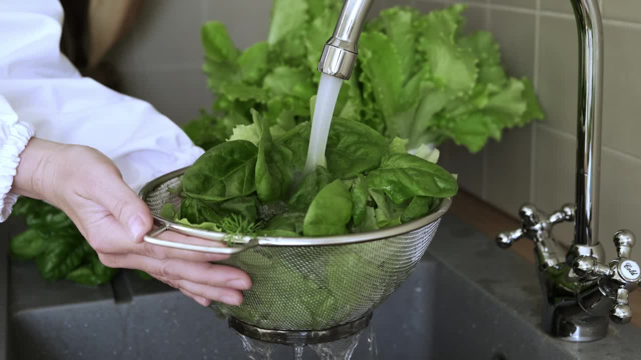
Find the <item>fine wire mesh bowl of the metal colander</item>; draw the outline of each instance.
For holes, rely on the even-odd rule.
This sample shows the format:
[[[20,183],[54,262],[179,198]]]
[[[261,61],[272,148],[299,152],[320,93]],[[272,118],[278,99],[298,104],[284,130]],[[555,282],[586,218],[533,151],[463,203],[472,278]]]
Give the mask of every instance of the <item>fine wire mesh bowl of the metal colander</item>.
[[[154,214],[179,205],[169,191],[180,177],[143,195]],[[258,246],[218,263],[246,272],[253,287],[241,306],[217,304],[222,313],[263,329],[322,330],[352,322],[381,304],[412,273],[440,218],[409,233],[361,243]]]

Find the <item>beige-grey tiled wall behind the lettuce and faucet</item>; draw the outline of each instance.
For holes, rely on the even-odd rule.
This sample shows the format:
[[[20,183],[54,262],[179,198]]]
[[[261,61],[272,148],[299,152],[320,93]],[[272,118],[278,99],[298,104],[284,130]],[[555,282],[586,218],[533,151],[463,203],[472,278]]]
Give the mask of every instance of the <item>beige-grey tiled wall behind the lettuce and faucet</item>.
[[[547,118],[513,129],[478,154],[451,143],[442,146],[444,165],[460,174],[463,188],[506,213],[531,201],[553,211],[574,200],[576,146],[577,35],[567,0],[476,0],[470,30],[494,33],[508,72],[528,76]],[[381,0],[374,12],[392,4],[423,11],[451,0]],[[191,119],[212,99],[201,74],[201,24],[227,24],[238,47],[263,40],[269,28],[269,0],[155,0],[112,53],[127,76],[126,92],[150,101],[176,122]],[[627,227],[641,236],[641,0],[602,0],[604,15],[604,119],[599,238],[613,255],[612,234]],[[251,9],[249,11],[248,9]],[[187,40],[192,39],[192,40]],[[169,88],[167,85],[169,84]],[[556,229],[569,241],[571,226]],[[637,251],[641,260],[641,250]]]

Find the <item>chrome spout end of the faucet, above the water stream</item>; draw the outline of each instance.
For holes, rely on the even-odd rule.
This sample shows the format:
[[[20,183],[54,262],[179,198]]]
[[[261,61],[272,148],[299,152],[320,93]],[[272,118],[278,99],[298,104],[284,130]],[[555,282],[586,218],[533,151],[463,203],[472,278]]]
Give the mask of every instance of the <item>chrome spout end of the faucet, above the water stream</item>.
[[[333,35],[325,43],[318,70],[348,80],[356,64],[358,38],[374,0],[345,0]]]

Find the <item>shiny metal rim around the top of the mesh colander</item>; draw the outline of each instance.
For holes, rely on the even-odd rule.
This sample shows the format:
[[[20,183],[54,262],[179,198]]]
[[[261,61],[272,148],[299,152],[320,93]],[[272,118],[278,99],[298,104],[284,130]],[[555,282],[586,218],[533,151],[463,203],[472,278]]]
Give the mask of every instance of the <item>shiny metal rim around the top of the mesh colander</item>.
[[[160,184],[166,183],[167,181],[174,179],[175,177],[181,176],[187,171],[188,167],[180,168],[174,170],[162,176],[156,177],[146,183],[140,191],[138,196],[140,199],[145,201],[149,192],[154,190]],[[442,199],[440,206],[438,206],[437,211],[430,213],[422,218],[417,218],[410,222],[406,222],[401,225],[396,225],[393,227],[386,227],[385,229],[378,229],[375,231],[366,231],[363,233],[350,233],[343,235],[333,235],[333,236],[244,236],[242,238],[234,238],[231,242],[233,243],[256,243],[256,245],[263,246],[321,246],[321,245],[340,245],[347,243],[361,243],[365,241],[372,240],[381,240],[383,238],[390,238],[392,236],[398,236],[405,233],[410,233],[426,227],[433,222],[438,221],[449,209],[452,204],[451,198]],[[204,229],[197,229],[194,227],[188,227],[187,225],[179,224],[174,222],[171,219],[163,218],[160,215],[156,215],[152,212],[152,216],[156,222],[164,225],[167,229],[176,231],[177,233],[196,236],[198,238],[203,238],[207,240],[216,240],[216,241],[227,241],[228,234],[221,233],[217,231],[209,231]]]

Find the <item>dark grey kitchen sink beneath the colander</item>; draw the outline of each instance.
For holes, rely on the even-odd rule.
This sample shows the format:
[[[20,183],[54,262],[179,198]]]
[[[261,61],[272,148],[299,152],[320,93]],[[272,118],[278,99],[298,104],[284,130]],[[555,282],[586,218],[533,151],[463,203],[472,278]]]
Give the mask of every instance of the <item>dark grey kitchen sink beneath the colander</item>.
[[[0,335],[8,333],[0,338],[8,345],[0,360],[246,358],[238,336],[212,309],[131,272],[101,288],[49,284],[33,265],[17,261],[0,274]],[[374,313],[378,359],[638,358],[635,327],[611,327],[608,338],[583,344],[544,334],[540,290],[530,275],[522,259],[446,216],[410,279]],[[273,358],[290,354],[283,346]],[[363,336],[353,359],[369,358]]]

